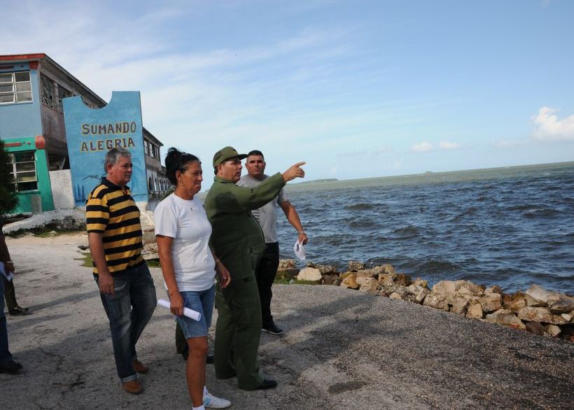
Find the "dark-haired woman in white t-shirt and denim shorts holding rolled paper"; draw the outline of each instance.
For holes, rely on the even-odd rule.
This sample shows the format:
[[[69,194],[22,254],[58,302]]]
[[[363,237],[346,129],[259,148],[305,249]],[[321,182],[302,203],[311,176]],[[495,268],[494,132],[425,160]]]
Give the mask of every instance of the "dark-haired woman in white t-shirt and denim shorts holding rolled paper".
[[[231,403],[209,394],[205,388],[205,360],[216,271],[222,288],[231,279],[229,271],[209,248],[211,225],[196,196],[203,181],[200,160],[195,155],[169,148],[165,168],[167,178],[176,188],[155,208],[155,237],[170,309],[188,343],[188,390],[193,409],[224,409]],[[200,312],[200,320],[183,316],[184,306]]]

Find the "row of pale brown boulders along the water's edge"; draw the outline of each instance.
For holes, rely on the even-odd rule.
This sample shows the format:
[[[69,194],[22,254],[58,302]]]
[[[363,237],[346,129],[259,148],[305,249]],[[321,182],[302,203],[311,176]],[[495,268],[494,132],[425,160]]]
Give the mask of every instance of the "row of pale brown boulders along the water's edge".
[[[426,280],[398,273],[391,264],[365,268],[358,261],[349,261],[345,272],[337,272],[332,265],[311,262],[300,270],[295,260],[281,260],[277,274],[280,278],[341,286],[574,341],[574,297],[538,285],[514,293],[505,293],[498,285],[486,288],[470,281],[440,281],[429,288]]]

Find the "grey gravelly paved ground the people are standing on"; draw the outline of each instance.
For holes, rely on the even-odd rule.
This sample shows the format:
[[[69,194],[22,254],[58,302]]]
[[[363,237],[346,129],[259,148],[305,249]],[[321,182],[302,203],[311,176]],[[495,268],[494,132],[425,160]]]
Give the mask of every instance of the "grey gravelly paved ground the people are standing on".
[[[85,234],[7,243],[18,302],[31,314],[8,316],[10,351],[25,369],[0,374],[0,409],[191,408],[174,320],[159,307],[138,344],[151,367],[146,391],[122,390],[91,269],[80,266]],[[151,271],[165,298],[160,269]],[[286,334],[262,334],[260,369],[279,387],[245,392],[207,367],[208,388],[232,409],[574,406],[574,344],[335,286],[273,290]]]

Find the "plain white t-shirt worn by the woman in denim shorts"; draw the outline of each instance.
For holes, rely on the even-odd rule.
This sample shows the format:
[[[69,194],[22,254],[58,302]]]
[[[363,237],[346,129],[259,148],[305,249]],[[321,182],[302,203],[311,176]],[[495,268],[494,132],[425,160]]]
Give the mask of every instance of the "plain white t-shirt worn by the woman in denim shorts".
[[[172,260],[180,292],[211,288],[215,278],[211,225],[197,195],[191,200],[169,195],[155,208],[153,219],[156,235],[174,238]]]

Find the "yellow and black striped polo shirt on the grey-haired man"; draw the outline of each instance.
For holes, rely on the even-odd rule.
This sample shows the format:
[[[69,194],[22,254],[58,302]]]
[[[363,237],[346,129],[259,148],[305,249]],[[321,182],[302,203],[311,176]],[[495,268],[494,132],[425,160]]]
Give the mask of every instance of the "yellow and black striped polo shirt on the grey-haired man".
[[[103,234],[104,254],[111,274],[117,274],[144,263],[141,257],[141,223],[139,209],[125,190],[102,178],[102,183],[85,202],[87,232]],[[96,264],[94,275],[98,274]]]

